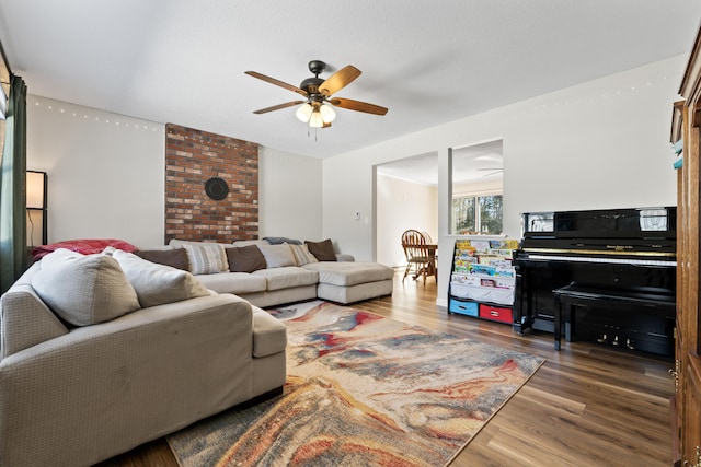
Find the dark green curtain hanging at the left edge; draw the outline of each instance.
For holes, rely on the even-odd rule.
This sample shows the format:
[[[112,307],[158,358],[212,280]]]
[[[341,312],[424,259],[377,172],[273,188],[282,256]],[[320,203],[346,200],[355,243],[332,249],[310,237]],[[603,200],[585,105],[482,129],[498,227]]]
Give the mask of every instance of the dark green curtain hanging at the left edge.
[[[0,293],[24,272],[26,250],[26,85],[10,80],[0,162]]]

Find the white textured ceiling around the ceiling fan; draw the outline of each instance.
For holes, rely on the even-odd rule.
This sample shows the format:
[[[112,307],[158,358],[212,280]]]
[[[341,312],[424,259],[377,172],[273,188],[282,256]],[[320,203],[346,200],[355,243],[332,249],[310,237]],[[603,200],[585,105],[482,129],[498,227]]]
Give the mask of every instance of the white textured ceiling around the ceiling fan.
[[[698,0],[2,0],[0,40],[32,94],[326,157],[691,49]],[[363,71],[313,131],[287,83]],[[329,73],[322,74],[322,78]]]

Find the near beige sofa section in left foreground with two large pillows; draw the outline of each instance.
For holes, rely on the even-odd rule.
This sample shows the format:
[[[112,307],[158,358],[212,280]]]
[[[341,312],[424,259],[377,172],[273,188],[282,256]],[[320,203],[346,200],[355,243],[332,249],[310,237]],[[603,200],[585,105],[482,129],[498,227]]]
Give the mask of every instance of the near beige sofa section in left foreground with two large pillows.
[[[89,466],[281,390],[287,330],[186,271],[59,249],[0,297],[0,465]]]

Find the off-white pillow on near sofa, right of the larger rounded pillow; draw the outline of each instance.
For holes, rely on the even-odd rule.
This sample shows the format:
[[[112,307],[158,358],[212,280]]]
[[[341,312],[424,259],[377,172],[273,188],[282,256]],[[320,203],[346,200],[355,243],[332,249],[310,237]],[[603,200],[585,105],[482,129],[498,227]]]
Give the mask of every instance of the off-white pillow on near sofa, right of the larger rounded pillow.
[[[202,282],[182,269],[147,261],[120,249],[112,257],[119,262],[143,308],[209,295]]]

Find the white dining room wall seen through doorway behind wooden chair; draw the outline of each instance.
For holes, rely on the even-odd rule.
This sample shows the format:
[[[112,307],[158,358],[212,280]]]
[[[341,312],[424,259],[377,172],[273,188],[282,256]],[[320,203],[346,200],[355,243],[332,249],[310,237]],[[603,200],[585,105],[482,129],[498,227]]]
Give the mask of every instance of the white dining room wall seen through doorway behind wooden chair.
[[[406,266],[402,233],[409,229],[438,238],[438,190],[395,177],[377,175],[377,260]]]

